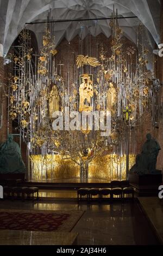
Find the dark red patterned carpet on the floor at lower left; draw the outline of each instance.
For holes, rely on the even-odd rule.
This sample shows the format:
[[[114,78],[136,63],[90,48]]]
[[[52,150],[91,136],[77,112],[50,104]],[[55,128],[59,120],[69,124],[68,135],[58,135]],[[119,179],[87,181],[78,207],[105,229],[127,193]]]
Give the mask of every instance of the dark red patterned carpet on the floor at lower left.
[[[83,211],[0,210],[0,229],[71,231]]]

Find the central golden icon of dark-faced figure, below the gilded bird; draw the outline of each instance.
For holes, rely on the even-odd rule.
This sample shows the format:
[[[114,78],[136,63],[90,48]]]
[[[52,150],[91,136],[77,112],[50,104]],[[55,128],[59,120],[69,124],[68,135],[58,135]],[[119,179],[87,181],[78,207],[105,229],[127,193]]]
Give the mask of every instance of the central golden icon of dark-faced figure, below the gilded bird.
[[[80,103],[79,103],[79,111],[92,111],[91,99],[93,97],[93,87],[90,76],[85,74],[82,77],[82,83],[79,88],[80,94]]]

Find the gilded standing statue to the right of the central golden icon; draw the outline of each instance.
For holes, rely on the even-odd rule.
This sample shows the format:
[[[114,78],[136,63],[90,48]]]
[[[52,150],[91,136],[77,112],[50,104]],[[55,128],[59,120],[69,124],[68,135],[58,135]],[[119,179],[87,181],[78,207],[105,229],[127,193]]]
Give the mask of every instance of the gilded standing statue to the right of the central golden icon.
[[[113,111],[113,106],[116,104],[117,92],[114,88],[113,83],[109,83],[109,89],[106,96],[106,109],[108,111]]]

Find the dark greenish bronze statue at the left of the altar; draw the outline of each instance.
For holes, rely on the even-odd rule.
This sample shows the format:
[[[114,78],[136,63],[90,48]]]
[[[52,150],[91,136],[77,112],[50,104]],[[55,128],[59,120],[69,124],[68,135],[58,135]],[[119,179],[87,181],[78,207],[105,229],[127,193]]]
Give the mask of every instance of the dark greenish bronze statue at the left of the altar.
[[[25,173],[26,166],[21,157],[19,145],[9,135],[8,140],[0,146],[0,173]]]

